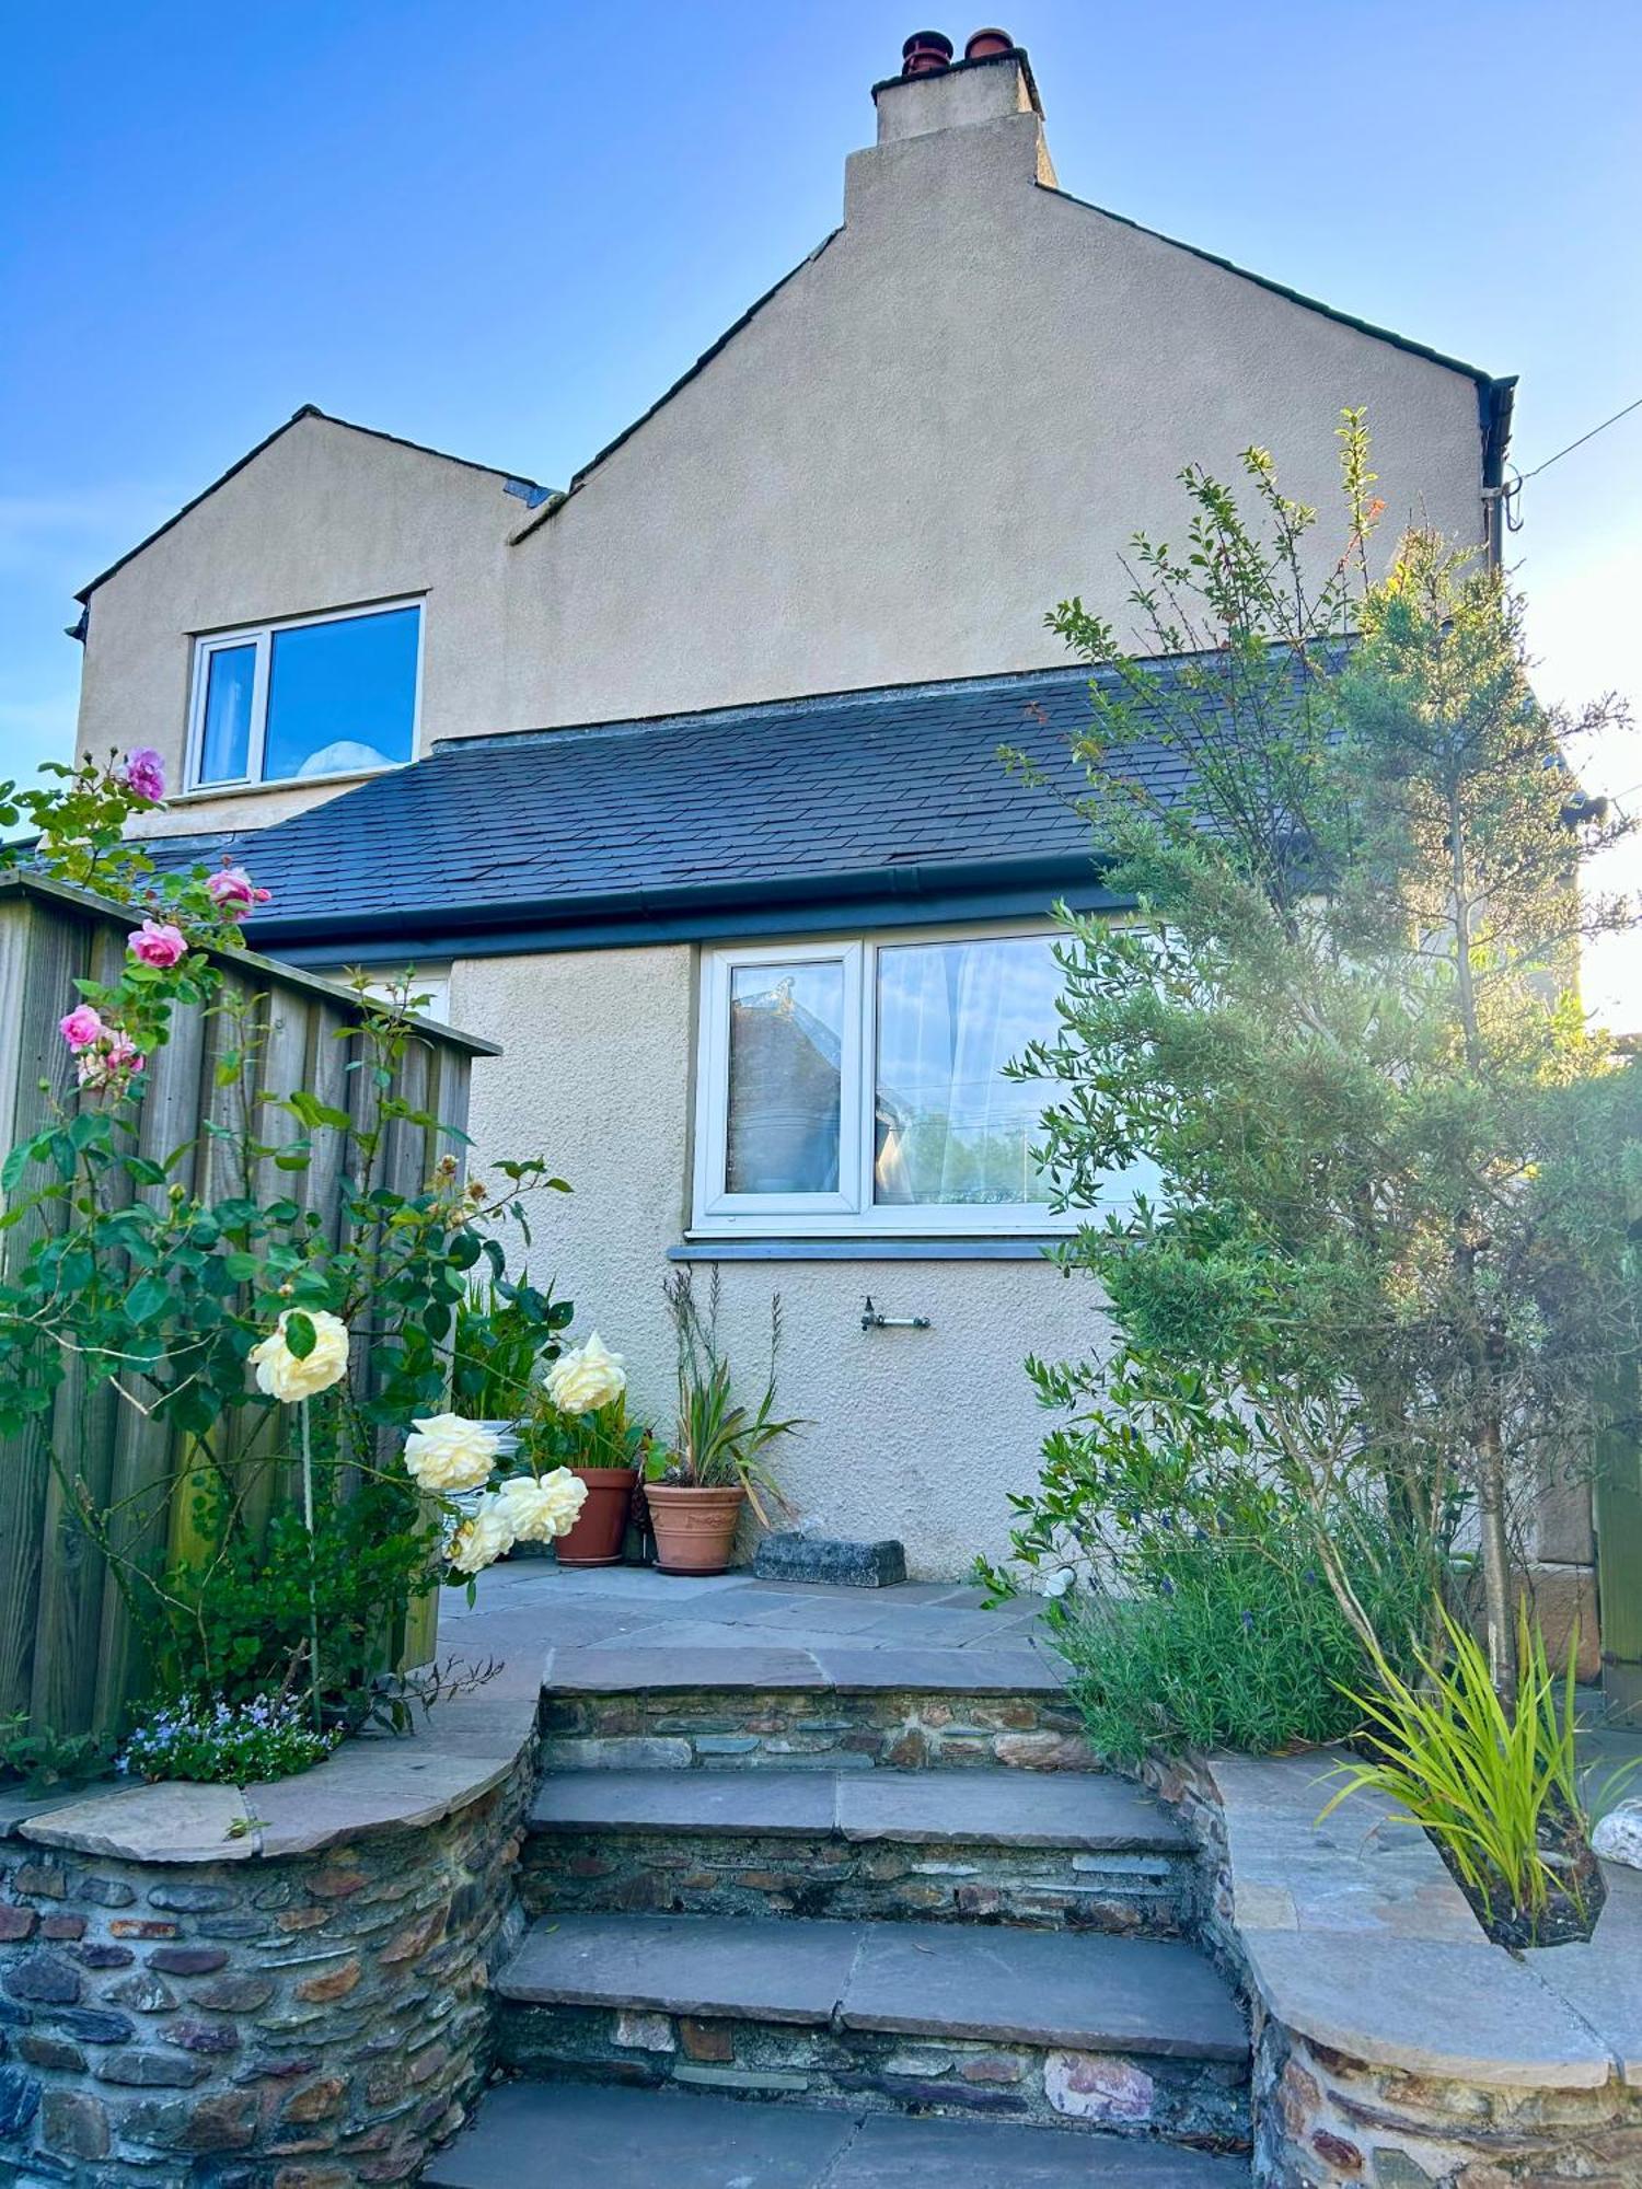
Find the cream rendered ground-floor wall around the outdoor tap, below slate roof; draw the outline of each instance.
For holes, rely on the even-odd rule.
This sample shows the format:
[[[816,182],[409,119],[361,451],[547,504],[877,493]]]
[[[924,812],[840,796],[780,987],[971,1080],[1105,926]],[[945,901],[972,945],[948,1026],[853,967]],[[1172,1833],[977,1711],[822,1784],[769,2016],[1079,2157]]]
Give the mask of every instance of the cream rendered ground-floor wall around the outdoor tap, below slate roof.
[[[574,1195],[541,1195],[530,1256],[626,1355],[639,1412],[672,1408],[666,1250],[683,1237],[694,972],[687,946],[458,959],[451,1020],[506,1044],[473,1064],[475,1165],[543,1154]],[[696,1281],[707,1285],[707,1267]],[[722,1335],[758,1394],[771,1292],[786,1309],[779,1399],[808,1427],[779,1453],[799,1515],[823,1534],[906,1543],[922,1576],[968,1572],[1007,1541],[1007,1493],[1038,1473],[1038,1410],[1020,1362],[1106,1342],[1099,1294],[1047,1263],[722,1263]],[[865,1296],[928,1331],[860,1329]]]

